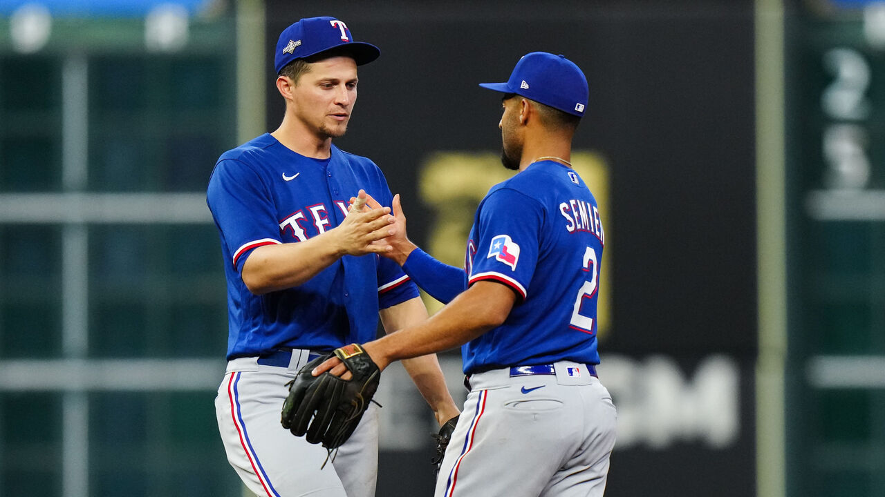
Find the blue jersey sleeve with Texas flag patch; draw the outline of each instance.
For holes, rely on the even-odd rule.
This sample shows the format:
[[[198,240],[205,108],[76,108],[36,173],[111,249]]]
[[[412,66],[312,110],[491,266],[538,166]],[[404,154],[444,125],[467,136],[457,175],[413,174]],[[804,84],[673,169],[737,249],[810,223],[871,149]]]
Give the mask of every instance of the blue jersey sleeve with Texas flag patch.
[[[544,211],[535,199],[511,188],[491,192],[476,217],[476,254],[467,285],[493,280],[528,294],[541,245]]]

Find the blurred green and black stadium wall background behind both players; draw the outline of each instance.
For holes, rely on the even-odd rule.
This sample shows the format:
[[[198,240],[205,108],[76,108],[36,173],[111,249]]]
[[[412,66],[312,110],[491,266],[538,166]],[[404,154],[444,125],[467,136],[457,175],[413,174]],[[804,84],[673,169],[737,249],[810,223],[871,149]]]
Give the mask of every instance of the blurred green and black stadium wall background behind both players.
[[[204,191],[281,119],[268,50],[315,15],[381,47],[339,145],[450,264],[504,174],[475,83],[532,50],[588,73],[607,495],[885,494],[885,3],[0,0],[0,496],[242,494]],[[378,495],[430,494],[398,365],[379,400]]]

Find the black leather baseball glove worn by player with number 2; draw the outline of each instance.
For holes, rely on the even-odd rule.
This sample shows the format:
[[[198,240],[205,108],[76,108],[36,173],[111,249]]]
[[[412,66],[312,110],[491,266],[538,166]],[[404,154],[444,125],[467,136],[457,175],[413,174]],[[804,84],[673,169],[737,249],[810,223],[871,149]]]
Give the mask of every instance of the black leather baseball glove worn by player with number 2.
[[[317,377],[311,371],[333,354],[342,360],[353,378],[342,379],[328,371]],[[329,450],[340,447],[354,430],[378,390],[381,371],[356,343],[336,348],[298,371],[290,381],[289,396],[282,404],[283,428],[312,444]]]

